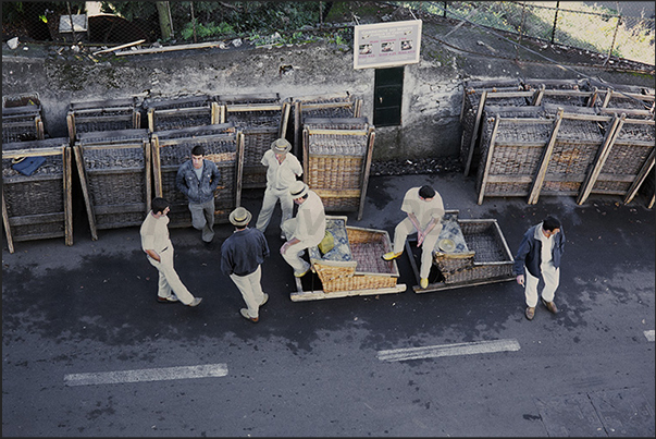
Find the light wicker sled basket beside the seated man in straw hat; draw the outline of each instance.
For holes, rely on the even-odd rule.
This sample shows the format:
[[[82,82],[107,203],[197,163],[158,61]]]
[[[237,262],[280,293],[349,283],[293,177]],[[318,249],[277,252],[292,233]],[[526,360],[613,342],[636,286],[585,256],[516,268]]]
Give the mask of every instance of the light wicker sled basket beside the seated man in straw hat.
[[[352,290],[384,289],[396,285],[399,277],[395,261],[384,261],[381,255],[392,251],[389,235],[384,230],[346,227],[345,217],[327,217],[326,230],[346,230],[347,243],[342,245],[337,260],[322,255],[317,247],[309,249],[312,268],[325,293]],[[345,254],[349,252],[350,254]]]

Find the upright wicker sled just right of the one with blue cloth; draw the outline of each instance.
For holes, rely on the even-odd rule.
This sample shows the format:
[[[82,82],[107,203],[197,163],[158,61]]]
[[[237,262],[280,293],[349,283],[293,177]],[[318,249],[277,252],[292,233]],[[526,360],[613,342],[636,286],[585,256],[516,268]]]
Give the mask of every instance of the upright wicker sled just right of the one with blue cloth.
[[[97,229],[139,225],[151,202],[147,130],[78,133],[75,160],[91,236]]]

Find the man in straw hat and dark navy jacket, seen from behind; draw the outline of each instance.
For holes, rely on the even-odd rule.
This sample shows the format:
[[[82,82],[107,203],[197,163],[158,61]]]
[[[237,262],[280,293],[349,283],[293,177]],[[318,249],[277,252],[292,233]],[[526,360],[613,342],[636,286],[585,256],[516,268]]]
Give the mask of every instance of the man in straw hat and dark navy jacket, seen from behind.
[[[255,324],[260,320],[260,306],[269,300],[262,292],[261,265],[269,257],[269,244],[264,234],[249,229],[252,215],[244,207],[237,207],[228,217],[235,227],[221,245],[221,271],[237,285],[248,308],[239,309],[242,316]]]

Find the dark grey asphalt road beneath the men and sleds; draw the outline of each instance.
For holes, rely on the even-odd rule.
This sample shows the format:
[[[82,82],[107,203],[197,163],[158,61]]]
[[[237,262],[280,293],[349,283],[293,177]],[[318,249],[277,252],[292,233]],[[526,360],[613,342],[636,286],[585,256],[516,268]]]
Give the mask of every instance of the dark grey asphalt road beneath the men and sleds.
[[[557,215],[567,237],[560,313],[539,307],[527,320],[513,282],[414,293],[407,255],[403,293],[292,302],[270,225],[271,298],[252,324],[199,232],[171,232],[177,271],[203,297],[189,308],[157,303],[138,228],[91,241],[79,216],[73,246],[2,251],[2,436],[653,437],[655,224],[644,199],[479,206],[473,178],[373,176],[363,219],[348,214],[348,224],[392,234],[403,194],[425,183],[461,218],[497,219],[512,252],[528,227]],[[244,194],[253,217],[261,194]],[[232,229],[216,232],[220,243]],[[475,351],[486,343],[505,349]],[[382,356],[407,347],[447,354]],[[188,378],[194,366],[214,376]]]

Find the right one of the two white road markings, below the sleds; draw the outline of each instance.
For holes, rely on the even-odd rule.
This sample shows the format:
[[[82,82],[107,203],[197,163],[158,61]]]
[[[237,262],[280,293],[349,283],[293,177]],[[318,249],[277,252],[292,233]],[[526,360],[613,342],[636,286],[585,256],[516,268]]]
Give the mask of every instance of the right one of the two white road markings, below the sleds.
[[[436,358],[438,356],[486,354],[492,352],[519,351],[515,339],[478,341],[473,343],[443,344],[437,346],[395,349],[379,351],[382,362],[403,362],[406,359]]]

